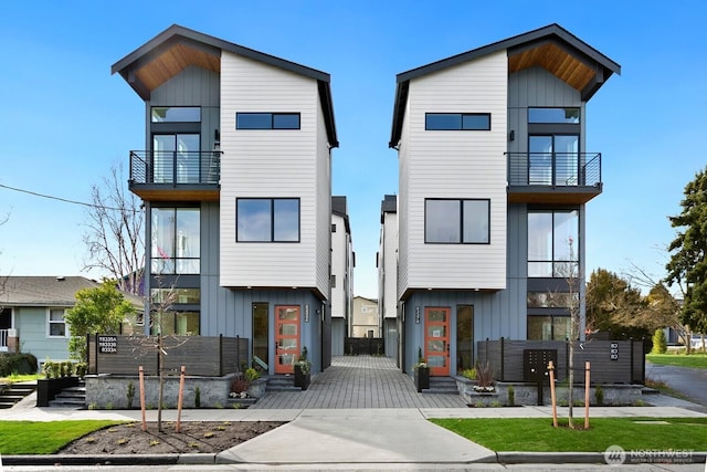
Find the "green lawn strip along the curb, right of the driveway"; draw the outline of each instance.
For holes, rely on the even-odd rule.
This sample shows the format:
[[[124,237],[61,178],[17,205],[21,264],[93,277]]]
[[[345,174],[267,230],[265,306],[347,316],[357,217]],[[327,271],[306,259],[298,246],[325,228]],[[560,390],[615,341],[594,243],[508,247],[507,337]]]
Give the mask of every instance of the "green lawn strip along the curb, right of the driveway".
[[[703,451],[707,444],[707,418],[590,417],[589,430],[571,430],[567,419],[560,420],[560,428],[552,428],[551,418],[431,421],[493,451],[604,452],[613,444],[625,450]],[[583,418],[576,418],[574,424],[583,426]]]

